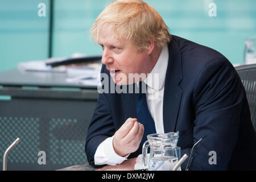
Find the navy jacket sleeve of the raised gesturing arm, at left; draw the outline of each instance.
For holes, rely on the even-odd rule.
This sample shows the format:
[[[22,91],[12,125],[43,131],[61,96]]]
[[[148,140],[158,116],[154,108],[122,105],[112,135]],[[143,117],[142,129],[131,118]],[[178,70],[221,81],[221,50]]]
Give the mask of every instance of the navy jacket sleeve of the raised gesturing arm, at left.
[[[105,65],[102,66],[101,73],[104,72]],[[97,147],[106,138],[114,135],[115,128],[112,119],[112,113],[109,106],[106,93],[100,93],[96,108],[94,109],[92,121],[88,127],[88,133],[85,143],[85,153],[91,166],[101,167],[94,164],[94,154]]]

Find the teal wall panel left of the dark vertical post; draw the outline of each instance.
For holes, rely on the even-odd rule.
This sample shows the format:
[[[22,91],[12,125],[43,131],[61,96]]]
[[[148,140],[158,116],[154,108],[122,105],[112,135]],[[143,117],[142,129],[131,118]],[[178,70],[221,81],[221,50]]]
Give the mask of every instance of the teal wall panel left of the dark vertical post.
[[[47,58],[49,16],[38,16],[41,2],[47,13],[49,0],[0,1],[0,71]]]

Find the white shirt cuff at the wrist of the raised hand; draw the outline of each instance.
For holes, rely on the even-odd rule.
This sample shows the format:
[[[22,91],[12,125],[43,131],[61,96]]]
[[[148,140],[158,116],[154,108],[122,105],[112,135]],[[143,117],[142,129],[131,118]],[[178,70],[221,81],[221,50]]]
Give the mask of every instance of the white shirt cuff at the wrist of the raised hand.
[[[105,139],[97,148],[94,155],[94,164],[102,165],[108,164],[115,166],[116,164],[121,164],[123,161],[127,160],[127,155],[125,157],[119,156],[115,153],[113,148],[113,137]]]

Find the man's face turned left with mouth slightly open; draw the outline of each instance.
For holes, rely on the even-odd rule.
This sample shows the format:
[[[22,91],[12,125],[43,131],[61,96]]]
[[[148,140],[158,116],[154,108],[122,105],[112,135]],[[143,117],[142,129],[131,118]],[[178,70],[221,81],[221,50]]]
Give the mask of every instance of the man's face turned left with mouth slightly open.
[[[139,81],[129,79],[129,73],[150,73],[148,51],[138,52],[129,40],[116,38],[111,26],[99,32],[98,43],[103,50],[101,62],[106,65],[115,84],[127,85]]]

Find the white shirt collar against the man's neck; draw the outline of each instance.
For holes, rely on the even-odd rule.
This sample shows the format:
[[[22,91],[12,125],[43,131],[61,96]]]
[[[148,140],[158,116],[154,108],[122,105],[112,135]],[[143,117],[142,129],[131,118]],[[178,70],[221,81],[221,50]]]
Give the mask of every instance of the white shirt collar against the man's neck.
[[[150,86],[155,90],[160,90],[164,86],[164,81],[166,80],[166,70],[168,65],[169,59],[169,51],[167,44],[164,45],[158,61],[155,64],[155,67],[152,71],[148,74],[145,80],[145,84]]]

